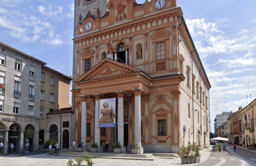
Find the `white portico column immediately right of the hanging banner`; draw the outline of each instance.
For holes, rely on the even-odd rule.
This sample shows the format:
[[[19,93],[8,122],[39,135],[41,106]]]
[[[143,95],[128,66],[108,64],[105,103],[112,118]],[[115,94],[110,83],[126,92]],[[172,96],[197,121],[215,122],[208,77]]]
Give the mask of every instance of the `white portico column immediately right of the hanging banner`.
[[[126,147],[124,147],[124,91],[116,91],[118,95],[118,142],[121,145],[121,153],[126,153]]]

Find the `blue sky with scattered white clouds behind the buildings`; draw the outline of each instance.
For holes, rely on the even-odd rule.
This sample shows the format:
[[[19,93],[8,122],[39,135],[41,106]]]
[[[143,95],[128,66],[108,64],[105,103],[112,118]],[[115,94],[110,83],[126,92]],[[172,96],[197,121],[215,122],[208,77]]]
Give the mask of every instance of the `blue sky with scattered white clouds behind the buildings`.
[[[74,0],[51,1],[74,17]],[[51,1],[0,0],[0,41],[71,76],[73,20]],[[238,106],[244,107],[256,97],[256,1],[177,3],[212,85],[210,118],[214,132],[216,114],[237,111]]]

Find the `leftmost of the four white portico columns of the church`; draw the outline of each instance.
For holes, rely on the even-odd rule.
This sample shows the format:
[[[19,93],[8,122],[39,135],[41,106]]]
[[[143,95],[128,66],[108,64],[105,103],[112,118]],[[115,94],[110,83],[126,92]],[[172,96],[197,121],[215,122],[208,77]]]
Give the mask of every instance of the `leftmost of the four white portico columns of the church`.
[[[85,151],[88,151],[88,147],[86,146],[86,107],[87,107],[87,99],[89,96],[79,95],[82,99],[82,113],[81,113],[81,141],[84,142],[82,147]]]

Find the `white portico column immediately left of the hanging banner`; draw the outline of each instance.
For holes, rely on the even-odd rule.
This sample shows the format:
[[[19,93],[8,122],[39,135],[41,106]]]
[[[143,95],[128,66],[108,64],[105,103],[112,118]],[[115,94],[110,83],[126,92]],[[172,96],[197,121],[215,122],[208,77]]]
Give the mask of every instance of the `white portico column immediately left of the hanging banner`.
[[[98,144],[98,152],[102,152],[102,146],[100,146],[100,96],[102,94],[95,93],[95,127],[94,127],[94,143]]]

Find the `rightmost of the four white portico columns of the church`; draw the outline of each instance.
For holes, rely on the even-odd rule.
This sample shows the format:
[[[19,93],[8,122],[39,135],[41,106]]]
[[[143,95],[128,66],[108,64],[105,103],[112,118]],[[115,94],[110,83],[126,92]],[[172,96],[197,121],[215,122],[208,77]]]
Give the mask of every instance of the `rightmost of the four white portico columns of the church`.
[[[137,147],[140,149],[140,154],[143,153],[143,147],[141,146],[141,110],[140,110],[140,94],[143,89],[132,89],[135,96],[135,116],[134,116],[134,135]]]

